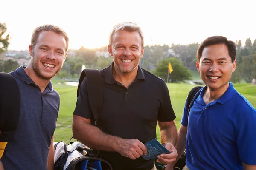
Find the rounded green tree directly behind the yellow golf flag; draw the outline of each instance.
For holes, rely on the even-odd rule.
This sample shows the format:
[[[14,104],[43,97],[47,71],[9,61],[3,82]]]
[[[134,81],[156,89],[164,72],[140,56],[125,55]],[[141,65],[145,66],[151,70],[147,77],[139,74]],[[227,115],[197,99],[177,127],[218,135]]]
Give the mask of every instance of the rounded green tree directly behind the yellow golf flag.
[[[189,72],[189,69],[186,68],[179,59],[176,57],[167,58],[159,61],[156,66],[157,68],[153,71],[153,73],[164,79],[167,79],[168,73],[168,63],[171,62],[173,71],[169,74],[169,81],[168,82],[182,82],[184,80],[190,80],[192,75]]]

